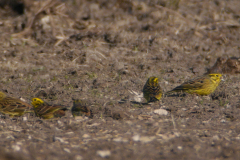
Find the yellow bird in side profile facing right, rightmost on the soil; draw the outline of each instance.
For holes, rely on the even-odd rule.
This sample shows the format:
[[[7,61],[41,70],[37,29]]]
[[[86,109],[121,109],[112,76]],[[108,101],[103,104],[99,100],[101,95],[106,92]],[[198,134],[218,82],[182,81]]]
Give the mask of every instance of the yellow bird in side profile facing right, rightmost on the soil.
[[[221,77],[222,74],[218,73],[206,74],[184,82],[182,85],[174,88],[166,94],[170,94],[172,92],[187,92],[190,94],[196,93],[199,95],[209,95],[214,92],[219,85]]]

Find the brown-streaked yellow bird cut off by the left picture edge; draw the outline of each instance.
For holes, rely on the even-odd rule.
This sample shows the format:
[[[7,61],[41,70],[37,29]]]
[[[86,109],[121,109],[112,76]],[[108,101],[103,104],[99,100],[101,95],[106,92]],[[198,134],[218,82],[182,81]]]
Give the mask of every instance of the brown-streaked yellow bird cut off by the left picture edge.
[[[0,112],[11,117],[21,116],[24,113],[32,112],[32,106],[17,98],[6,96],[0,92]]]

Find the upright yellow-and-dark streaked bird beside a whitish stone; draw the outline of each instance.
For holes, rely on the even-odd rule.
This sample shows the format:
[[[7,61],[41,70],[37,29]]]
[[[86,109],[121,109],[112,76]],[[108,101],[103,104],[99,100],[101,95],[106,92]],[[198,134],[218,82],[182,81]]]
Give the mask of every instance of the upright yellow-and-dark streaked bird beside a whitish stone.
[[[143,87],[143,96],[147,102],[159,101],[162,97],[162,89],[158,84],[157,77],[148,78]]]

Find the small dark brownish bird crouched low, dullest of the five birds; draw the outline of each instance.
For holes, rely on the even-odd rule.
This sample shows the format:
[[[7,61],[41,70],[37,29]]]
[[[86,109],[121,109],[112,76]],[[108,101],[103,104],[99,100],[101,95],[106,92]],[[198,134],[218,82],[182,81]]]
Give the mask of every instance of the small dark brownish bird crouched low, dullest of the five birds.
[[[88,108],[88,103],[86,100],[76,99],[73,101],[72,115],[75,116],[87,116],[89,118],[93,117],[92,111]]]

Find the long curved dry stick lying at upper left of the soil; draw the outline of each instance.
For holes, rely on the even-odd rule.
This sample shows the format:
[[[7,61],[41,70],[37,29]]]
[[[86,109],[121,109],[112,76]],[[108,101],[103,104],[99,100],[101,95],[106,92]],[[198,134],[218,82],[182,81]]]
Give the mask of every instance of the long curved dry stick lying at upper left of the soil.
[[[55,1],[55,2],[54,2],[54,1]],[[51,4],[51,3],[52,3],[52,4]],[[19,32],[19,33],[16,33],[16,34],[12,34],[12,36],[13,36],[13,37],[21,37],[21,36],[24,36],[24,35],[29,34],[29,32],[31,32],[32,25],[33,25],[36,17],[37,17],[42,11],[44,11],[44,10],[46,10],[46,9],[54,6],[56,3],[57,3],[56,0],[48,0],[48,1],[46,2],[46,4],[43,5],[43,7],[40,8],[40,9],[37,11],[37,13],[35,13],[35,15],[34,15],[32,18],[30,18],[30,20],[28,21],[27,27],[26,27],[22,32]]]

